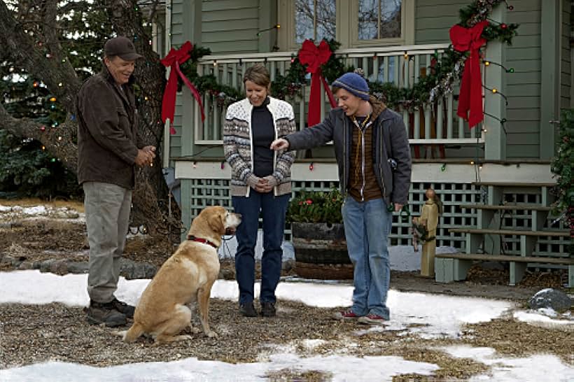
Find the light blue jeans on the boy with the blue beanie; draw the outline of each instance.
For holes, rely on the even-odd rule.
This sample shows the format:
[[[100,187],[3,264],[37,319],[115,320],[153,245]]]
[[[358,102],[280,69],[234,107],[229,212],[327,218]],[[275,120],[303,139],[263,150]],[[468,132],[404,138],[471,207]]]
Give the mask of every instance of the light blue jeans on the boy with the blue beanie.
[[[391,267],[387,238],[393,223],[384,199],[356,201],[346,197],[341,208],[346,246],[353,263],[353,306],[358,316],[369,313],[388,320],[386,306]]]

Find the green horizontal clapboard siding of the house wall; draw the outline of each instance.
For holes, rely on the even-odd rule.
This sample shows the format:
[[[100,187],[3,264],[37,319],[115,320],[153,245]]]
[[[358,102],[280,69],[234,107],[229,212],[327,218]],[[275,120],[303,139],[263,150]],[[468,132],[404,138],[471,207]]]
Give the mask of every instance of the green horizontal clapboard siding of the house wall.
[[[553,141],[549,134],[552,125],[548,122],[557,117],[553,108],[570,106],[570,2],[544,1],[547,2],[514,1],[514,10],[503,10],[505,22],[520,24],[513,44],[503,48],[503,64],[514,69],[514,73],[503,73],[500,87],[508,100],[504,126],[508,159],[548,157]],[[458,10],[468,3],[468,0],[415,1],[414,44],[448,43],[449,28],[459,21]],[[264,32],[258,36],[257,32],[274,24],[273,4],[274,1],[264,0],[174,0],[172,45],[178,48],[195,34],[198,38],[192,41],[209,47],[216,55],[269,51],[266,39],[271,35]],[[189,15],[194,10],[196,14]],[[195,24],[190,25],[193,20]],[[554,44],[549,42],[553,39]],[[552,58],[551,52],[556,58]],[[488,49],[485,58],[489,59]],[[181,94],[178,97],[174,124],[177,134],[170,143],[172,157],[203,150],[193,146],[193,127],[188,115],[194,101],[186,92],[183,101]],[[185,132],[182,123],[186,124]],[[220,151],[210,150],[204,156],[221,155]]]

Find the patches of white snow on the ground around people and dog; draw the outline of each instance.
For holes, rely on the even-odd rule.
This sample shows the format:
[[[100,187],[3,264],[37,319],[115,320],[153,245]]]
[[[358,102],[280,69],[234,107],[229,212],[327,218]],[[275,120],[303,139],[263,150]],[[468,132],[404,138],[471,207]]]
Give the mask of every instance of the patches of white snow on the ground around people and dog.
[[[87,275],[41,274],[39,271],[0,272],[0,303],[48,304],[62,302],[85,306]],[[117,296],[136,303],[148,280],[120,278]],[[258,293],[259,285],[256,285]],[[283,282],[279,284],[279,300],[296,300],[312,306],[335,307],[351,304],[352,287],[334,283]],[[237,299],[235,281],[218,280],[211,297]],[[391,321],[386,328],[418,333],[421,337],[456,337],[464,323],[492,320],[514,309],[511,302],[472,297],[427,295],[398,292],[388,295]],[[518,311],[517,313],[520,313]],[[515,314],[521,319],[521,314]],[[542,316],[545,317],[545,316]],[[533,316],[528,316],[533,320]],[[426,326],[409,328],[412,323]],[[572,325],[568,323],[566,325]],[[371,330],[384,330],[377,327]],[[362,334],[358,332],[357,334]],[[321,343],[302,339],[307,348]],[[269,350],[270,349],[270,350]],[[437,365],[412,362],[400,357],[379,356],[356,358],[348,355],[300,358],[293,349],[273,348],[265,361],[249,364],[228,364],[219,361],[186,358],[173,362],[144,362],[115,367],[90,367],[66,362],[45,362],[26,367],[0,370],[0,381],[265,381],[265,374],[281,369],[300,372],[318,370],[330,373],[333,381],[384,381],[398,374],[430,375]],[[534,355],[529,358],[500,358],[493,349],[470,346],[450,346],[442,350],[454,357],[472,358],[493,367],[491,374],[476,376],[473,380],[496,381],[571,381],[574,368],[564,365],[553,355]]]

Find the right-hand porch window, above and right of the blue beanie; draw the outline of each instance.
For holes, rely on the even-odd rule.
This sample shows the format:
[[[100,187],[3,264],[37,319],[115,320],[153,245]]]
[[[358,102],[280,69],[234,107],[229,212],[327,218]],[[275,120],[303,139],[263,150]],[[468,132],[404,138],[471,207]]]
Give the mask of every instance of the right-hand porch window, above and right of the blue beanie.
[[[359,0],[358,39],[400,37],[401,0]]]

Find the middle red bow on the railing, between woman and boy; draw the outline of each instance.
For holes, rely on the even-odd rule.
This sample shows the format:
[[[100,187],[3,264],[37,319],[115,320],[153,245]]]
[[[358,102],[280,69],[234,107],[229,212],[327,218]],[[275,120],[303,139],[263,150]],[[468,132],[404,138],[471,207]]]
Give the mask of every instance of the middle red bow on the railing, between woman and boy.
[[[311,94],[309,94],[309,111],[307,113],[307,126],[311,127],[321,122],[321,83],[327,92],[327,97],[332,108],[337,106],[335,97],[321,75],[321,65],[328,62],[331,57],[329,44],[323,40],[317,46],[311,40],[303,41],[299,50],[299,61],[301,64],[307,64],[307,73],[311,73]]]

